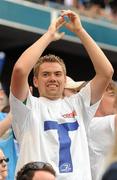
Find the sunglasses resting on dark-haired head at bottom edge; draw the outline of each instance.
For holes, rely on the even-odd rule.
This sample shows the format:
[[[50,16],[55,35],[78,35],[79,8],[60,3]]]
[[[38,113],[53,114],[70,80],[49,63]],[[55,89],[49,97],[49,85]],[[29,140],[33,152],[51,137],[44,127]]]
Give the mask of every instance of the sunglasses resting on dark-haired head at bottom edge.
[[[26,164],[23,168],[22,168],[22,175],[24,175],[25,173],[29,172],[29,171],[35,171],[35,170],[45,170],[50,172],[51,174],[53,174],[55,176],[55,171],[53,169],[53,167],[51,166],[51,164],[49,163],[44,163],[44,162],[31,162]]]

